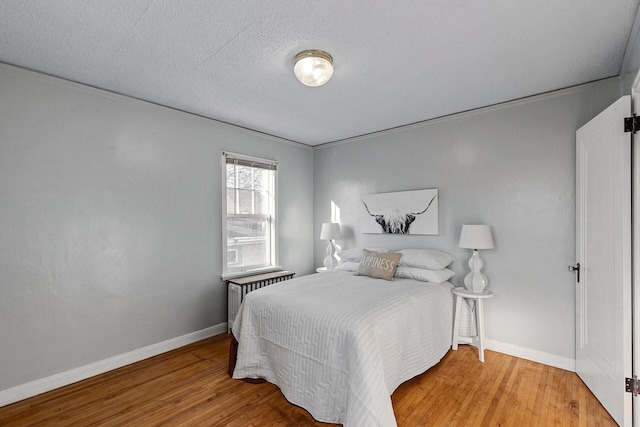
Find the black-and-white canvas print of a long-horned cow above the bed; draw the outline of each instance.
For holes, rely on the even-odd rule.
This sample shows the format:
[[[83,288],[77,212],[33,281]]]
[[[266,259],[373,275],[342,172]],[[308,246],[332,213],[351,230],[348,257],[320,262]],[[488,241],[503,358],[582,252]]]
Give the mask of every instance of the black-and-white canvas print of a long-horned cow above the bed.
[[[360,229],[376,234],[438,234],[438,190],[362,196]]]

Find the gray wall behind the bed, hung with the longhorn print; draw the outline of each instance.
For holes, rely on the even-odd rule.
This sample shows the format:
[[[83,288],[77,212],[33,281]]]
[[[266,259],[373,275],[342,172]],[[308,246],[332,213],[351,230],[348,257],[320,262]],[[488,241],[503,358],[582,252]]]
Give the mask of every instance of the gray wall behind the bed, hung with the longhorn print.
[[[575,131],[622,87],[609,79],[316,148],[315,235],[334,202],[344,248],[442,249],[457,257],[452,281],[462,285],[471,253],[457,246],[461,226],[489,224],[487,337],[573,359]],[[439,235],[360,232],[360,195],[425,188],[439,190]],[[316,266],[325,246],[316,239]]]

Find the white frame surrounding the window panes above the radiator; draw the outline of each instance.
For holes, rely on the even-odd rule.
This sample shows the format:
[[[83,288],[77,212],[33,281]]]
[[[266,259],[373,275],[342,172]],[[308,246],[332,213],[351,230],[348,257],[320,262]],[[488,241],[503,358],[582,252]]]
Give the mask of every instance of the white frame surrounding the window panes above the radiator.
[[[269,165],[273,168],[273,203],[271,207],[271,246],[270,262],[267,266],[257,268],[233,269],[227,265],[227,158],[237,159],[244,162],[252,162],[260,165]],[[282,270],[279,265],[278,256],[278,162],[274,160],[262,159],[260,157],[247,156],[245,154],[222,151],[220,156],[221,176],[222,176],[222,279],[233,277],[249,276],[252,274],[266,273],[269,271]],[[247,215],[250,216],[250,215]]]

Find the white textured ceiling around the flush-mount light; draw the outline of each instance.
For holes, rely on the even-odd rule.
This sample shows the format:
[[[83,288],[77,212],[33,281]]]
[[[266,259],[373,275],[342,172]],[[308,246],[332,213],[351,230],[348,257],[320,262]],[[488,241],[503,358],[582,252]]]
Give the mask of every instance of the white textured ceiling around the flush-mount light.
[[[0,62],[316,145],[616,76],[638,1],[2,0]]]

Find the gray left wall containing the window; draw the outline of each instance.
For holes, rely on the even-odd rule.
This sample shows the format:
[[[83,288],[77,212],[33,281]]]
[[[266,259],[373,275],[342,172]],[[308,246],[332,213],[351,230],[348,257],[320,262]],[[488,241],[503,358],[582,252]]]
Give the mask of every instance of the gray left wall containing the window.
[[[223,149],[280,163],[311,272],[308,147],[0,65],[0,390],[226,322]]]

